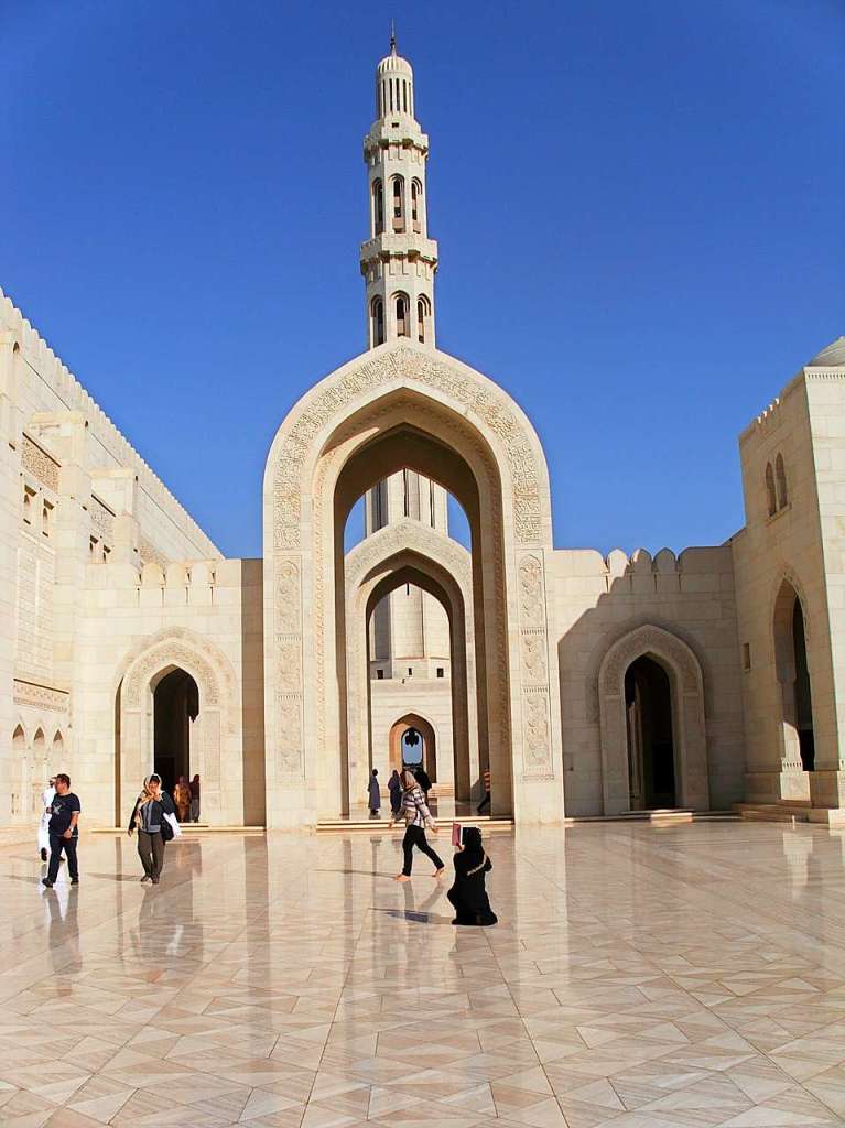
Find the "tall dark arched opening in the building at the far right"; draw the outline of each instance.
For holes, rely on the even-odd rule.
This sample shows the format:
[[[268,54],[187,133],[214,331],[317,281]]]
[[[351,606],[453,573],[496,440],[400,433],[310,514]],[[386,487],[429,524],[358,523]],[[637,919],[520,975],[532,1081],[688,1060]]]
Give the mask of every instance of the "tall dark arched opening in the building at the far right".
[[[812,690],[807,659],[807,627],[801,599],[784,580],[775,600],[775,666],[781,685],[781,739],[784,766],[812,772],[816,737],[812,723]]]

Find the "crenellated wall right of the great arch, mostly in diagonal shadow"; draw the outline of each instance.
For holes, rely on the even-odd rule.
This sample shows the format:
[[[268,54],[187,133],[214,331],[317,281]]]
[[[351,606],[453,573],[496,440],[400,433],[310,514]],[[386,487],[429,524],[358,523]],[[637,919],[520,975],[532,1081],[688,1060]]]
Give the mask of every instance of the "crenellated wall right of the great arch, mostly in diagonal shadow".
[[[680,640],[701,667],[710,793],[703,805],[724,809],[741,799],[742,713],[730,547],[689,548],[677,558],[663,549],[653,559],[642,549],[631,559],[622,552],[605,559],[592,550],[558,550],[551,563],[566,813],[605,813],[599,670],[615,643],[646,625]],[[630,660],[635,656],[633,652]],[[626,749],[605,748],[605,754],[620,759]]]

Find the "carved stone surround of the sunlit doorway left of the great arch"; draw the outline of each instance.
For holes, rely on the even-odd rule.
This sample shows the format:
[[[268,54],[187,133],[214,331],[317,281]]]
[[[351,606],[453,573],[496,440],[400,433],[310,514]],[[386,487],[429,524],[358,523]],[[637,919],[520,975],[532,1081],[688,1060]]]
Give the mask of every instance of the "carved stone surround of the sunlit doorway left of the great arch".
[[[200,713],[192,732],[192,772],[201,776],[202,820],[212,825],[227,821],[227,810],[237,809],[238,796],[231,794],[237,781],[227,779],[226,802],[221,781],[221,763],[237,763],[240,756],[235,672],[228,659],[206,638],[184,628],[166,628],[140,640],[118,671],[115,690],[117,826],[131,811],[144,775],[152,770],[153,689],[165,673],[175,669],[190,673],[199,689]],[[240,805],[243,809],[243,803]]]

